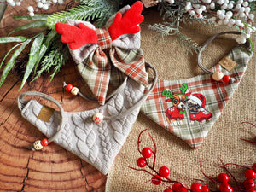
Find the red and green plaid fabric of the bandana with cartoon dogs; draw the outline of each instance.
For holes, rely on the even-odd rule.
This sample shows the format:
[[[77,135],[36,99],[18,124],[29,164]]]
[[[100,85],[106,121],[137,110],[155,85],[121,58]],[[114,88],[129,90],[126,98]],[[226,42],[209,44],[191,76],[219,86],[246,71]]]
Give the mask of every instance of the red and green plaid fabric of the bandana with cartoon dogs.
[[[210,74],[201,74],[191,79],[172,81],[159,79],[154,90],[148,96],[148,100],[143,103],[141,112],[167,131],[180,137],[190,147],[199,148],[204,138],[207,137],[208,131],[210,131],[212,125],[219,118],[238,84],[241,82],[251,55],[249,55],[249,51],[244,47],[235,47],[227,55],[232,61],[236,61],[237,67],[235,70],[229,73],[219,64],[212,67],[211,70],[213,72],[220,70],[224,74],[229,74],[231,78],[235,79],[232,83],[226,84],[214,81]],[[170,122],[166,118],[170,113],[174,113],[175,110],[177,111],[177,108],[173,106],[170,99],[168,100],[166,96],[163,96],[163,91],[171,90],[173,95],[176,94],[180,98],[182,96],[180,88],[183,87],[183,84],[188,86],[188,91],[184,94],[186,96],[185,99],[193,100],[192,102],[201,107],[201,111],[197,114],[204,120],[193,119],[192,116],[194,115],[196,118],[197,114],[190,113],[188,106],[183,109],[183,113],[178,113],[183,119]]]

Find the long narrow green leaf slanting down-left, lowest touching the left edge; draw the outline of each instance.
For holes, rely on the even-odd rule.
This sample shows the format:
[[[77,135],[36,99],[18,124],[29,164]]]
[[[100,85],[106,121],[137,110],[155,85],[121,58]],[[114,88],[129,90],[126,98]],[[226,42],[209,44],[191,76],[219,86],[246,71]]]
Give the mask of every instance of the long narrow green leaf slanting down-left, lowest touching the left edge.
[[[7,75],[9,74],[9,71],[15,66],[15,61],[16,61],[17,57],[20,55],[22,50],[26,48],[26,45],[31,42],[31,40],[32,39],[27,39],[24,43],[22,43],[22,45],[20,46],[19,49],[15,50],[14,55],[12,55],[12,57],[8,61],[7,65],[3,69],[3,73],[2,73],[2,76],[1,76],[1,79],[0,79],[0,87],[2,86],[2,84],[3,84],[4,80],[6,79]]]

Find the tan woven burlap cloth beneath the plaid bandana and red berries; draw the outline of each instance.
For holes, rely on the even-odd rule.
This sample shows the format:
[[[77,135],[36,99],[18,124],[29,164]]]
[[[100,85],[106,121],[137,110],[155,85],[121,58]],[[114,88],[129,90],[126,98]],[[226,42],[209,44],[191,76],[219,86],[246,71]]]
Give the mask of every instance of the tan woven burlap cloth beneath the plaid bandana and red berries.
[[[166,38],[165,43],[154,44],[155,33],[148,30],[148,24],[160,22],[155,11],[145,15],[142,24],[142,49],[145,60],[153,64],[159,73],[160,79],[186,79],[202,73],[196,65],[196,55],[187,55],[185,49],[179,46],[176,38]],[[207,38],[217,32],[230,31],[229,28],[203,25],[183,26],[183,32],[202,44]],[[220,37],[209,45],[202,55],[202,63],[210,68],[226,55],[235,41],[230,37]],[[229,40],[227,40],[229,39]],[[255,35],[253,44],[256,45]],[[156,169],[168,166],[171,170],[170,178],[186,185],[193,183],[193,179],[207,180],[200,169],[200,161],[204,172],[212,177],[224,172],[220,167],[219,158],[225,163],[232,162],[243,166],[253,165],[256,162],[255,144],[245,143],[240,138],[253,139],[256,129],[251,125],[240,125],[242,121],[256,124],[256,55],[253,56],[247,67],[247,72],[239,88],[224,109],[224,112],[208,133],[201,148],[194,150],[170,132],[154,124],[140,114],[133,125],[125,145],[116,157],[111,171],[108,173],[106,191],[163,191],[163,185],[155,186],[146,172],[137,172],[128,166],[137,167],[140,154],[137,151],[137,137],[144,129],[148,129],[157,144]],[[153,147],[147,133],[144,134],[142,147]],[[230,166],[230,171],[237,173],[237,178],[244,180],[243,169]],[[214,188],[215,185],[212,185]],[[216,187],[216,186],[215,186]]]

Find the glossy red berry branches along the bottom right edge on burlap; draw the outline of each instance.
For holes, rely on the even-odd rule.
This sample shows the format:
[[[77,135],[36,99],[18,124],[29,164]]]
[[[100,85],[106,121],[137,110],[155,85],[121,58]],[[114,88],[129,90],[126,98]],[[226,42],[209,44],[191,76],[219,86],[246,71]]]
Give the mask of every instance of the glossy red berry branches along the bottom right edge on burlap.
[[[146,130],[144,130],[146,131]],[[137,159],[137,166],[139,166],[141,169],[137,169],[137,168],[133,168],[130,167],[133,170],[137,170],[137,171],[143,171],[143,172],[147,172],[148,174],[151,175],[151,183],[153,183],[154,185],[164,185],[166,187],[166,189],[164,190],[164,192],[210,192],[213,191],[212,189],[209,189],[207,187],[207,184],[202,181],[202,180],[198,180],[201,181],[202,183],[204,183],[203,185],[201,183],[198,182],[194,182],[191,184],[190,188],[186,187],[183,183],[178,182],[178,181],[174,181],[171,178],[169,178],[170,175],[170,169],[167,166],[161,166],[160,169],[157,171],[155,169],[155,160],[156,160],[156,144],[154,142],[153,137],[151,137],[151,135],[148,133],[149,137],[151,138],[151,140],[154,143],[154,151],[151,148],[143,148],[143,150],[140,150],[140,143],[142,142],[140,137],[142,135],[142,133],[144,132],[142,131],[139,134],[138,137],[138,141],[137,141],[137,149],[139,151],[140,154],[142,154],[142,157]],[[154,156],[154,160],[153,160],[153,165],[151,166],[148,163],[148,159],[152,158],[152,156]],[[218,189],[220,192],[233,192],[233,191],[242,191],[242,192],[256,192],[255,189],[255,182],[253,181],[253,179],[255,179],[256,177],[256,163],[253,164],[252,167],[249,166],[240,166],[237,164],[232,164],[232,163],[228,163],[228,164],[224,164],[223,161],[221,160],[222,166],[224,167],[224,170],[228,173],[220,173],[218,174],[217,180],[214,180],[212,177],[207,176],[201,167],[201,172],[203,173],[203,175],[205,177],[207,177],[209,180],[211,180],[213,183],[216,183],[218,185]],[[234,177],[231,172],[229,171],[229,169],[227,168],[227,166],[229,165],[235,165],[235,166],[240,166],[243,168],[246,168],[246,171],[244,173],[245,175],[245,180],[243,183],[238,183],[238,181],[236,180],[236,177]],[[143,169],[144,167],[148,167],[149,171],[146,169]],[[229,181],[230,178],[233,179],[233,181],[235,181],[236,186],[230,186]],[[173,183],[172,186],[167,185],[166,183]]]

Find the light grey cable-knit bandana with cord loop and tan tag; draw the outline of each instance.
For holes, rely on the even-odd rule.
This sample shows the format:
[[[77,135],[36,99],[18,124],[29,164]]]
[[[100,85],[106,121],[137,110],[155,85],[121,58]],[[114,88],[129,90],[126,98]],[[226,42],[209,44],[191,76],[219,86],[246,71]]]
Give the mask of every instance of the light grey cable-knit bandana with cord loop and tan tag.
[[[137,119],[141,105],[154,88],[155,70],[154,73],[154,83],[147,94],[143,94],[145,87],[142,84],[128,78],[123,90],[114,94],[104,106],[89,111],[64,112],[61,104],[51,96],[33,91],[22,93],[18,98],[18,106],[21,115],[49,137],[49,142],[61,145],[107,174]],[[35,100],[28,102],[25,96],[39,96],[54,102],[60,111],[49,110],[49,107]],[[50,113],[49,119],[41,117],[45,112]],[[93,120],[96,113],[103,114],[101,123]]]

